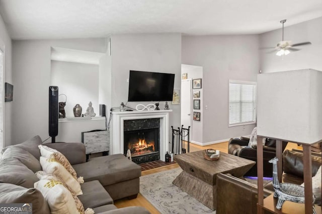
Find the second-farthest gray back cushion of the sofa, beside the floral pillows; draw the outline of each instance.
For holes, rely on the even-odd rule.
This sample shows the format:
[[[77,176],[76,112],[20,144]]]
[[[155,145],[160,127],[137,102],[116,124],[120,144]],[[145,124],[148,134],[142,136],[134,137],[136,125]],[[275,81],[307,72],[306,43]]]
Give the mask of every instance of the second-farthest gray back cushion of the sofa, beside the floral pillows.
[[[20,160],[20,162],[25,164],[33,172],[36,172],[42,169],[39,160],[37,160],[34,157],[34,155],[32,155],[28,151],[18,146],[10,146],[9,148],[6,149],[6,151],[2,155],[2,159],[6,159],[10,157]]]

